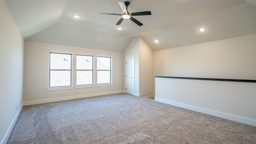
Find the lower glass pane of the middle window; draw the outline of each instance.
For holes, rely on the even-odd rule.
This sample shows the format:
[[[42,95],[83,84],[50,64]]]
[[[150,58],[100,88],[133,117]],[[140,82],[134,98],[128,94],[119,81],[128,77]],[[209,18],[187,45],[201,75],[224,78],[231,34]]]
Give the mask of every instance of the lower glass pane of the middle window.
[[[86,85],[92,83],[92,71],[76,71],[76,85]]]

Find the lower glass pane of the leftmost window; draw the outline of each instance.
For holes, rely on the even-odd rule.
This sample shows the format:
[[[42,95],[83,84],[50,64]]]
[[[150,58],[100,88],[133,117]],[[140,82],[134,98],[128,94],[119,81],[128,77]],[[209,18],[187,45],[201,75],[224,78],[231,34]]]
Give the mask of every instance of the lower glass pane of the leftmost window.
[[[50,71],[50,87],[55,86],[71,86],[71,71],[58,71],[52,70]]]

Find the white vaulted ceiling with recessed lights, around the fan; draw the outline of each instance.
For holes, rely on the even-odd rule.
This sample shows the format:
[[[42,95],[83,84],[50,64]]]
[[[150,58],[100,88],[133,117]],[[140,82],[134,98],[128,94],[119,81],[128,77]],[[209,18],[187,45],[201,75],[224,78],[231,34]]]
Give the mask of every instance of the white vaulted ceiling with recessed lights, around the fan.
[[[128,12],[152,15],[134,16],[142,26],[124,20],[122,30],[116,25],[121,16],[100,14],[122,14],[118,0],[4,2],[24,39],[34,42],[123,52],[142,37],[155,51],[256,34],[256,0],[129,0]]]

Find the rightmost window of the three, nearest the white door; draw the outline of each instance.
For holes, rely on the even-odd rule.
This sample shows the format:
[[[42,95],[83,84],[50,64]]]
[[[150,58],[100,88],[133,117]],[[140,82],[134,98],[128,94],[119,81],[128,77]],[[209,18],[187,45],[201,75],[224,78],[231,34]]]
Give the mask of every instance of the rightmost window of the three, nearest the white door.
[[[110,84],[111,70],[111,58],[97,56],[97,84]]]

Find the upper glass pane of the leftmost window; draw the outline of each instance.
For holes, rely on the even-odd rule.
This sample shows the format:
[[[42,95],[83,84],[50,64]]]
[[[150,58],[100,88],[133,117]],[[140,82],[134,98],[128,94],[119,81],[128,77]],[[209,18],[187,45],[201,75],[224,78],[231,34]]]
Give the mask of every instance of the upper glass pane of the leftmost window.
[[[50,53],[50,70],[71,70],[71,54]]]

